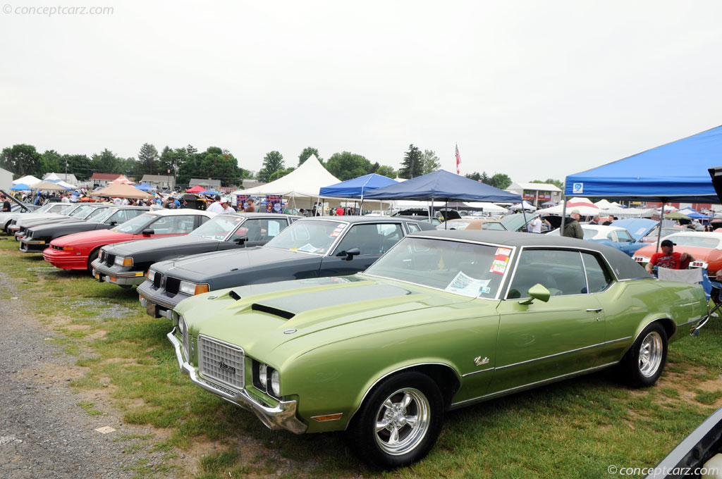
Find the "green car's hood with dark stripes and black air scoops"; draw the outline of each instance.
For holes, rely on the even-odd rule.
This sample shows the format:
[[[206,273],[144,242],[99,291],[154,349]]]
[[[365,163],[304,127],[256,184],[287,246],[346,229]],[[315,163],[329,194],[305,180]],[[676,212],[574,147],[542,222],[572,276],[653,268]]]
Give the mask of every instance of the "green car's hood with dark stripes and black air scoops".
[[[224,289],[186,299],[176,310],[193,335],[238,344],[264,359],[277,348],[286,350],[284,356],[296,356],[325,343],[449,320],[463,315],[464,304],[472,301],[422,286],[354,275]],[[490,312],[497,304],[477,301],[488,303]],[[478,308],[474,311],[479,314]]]

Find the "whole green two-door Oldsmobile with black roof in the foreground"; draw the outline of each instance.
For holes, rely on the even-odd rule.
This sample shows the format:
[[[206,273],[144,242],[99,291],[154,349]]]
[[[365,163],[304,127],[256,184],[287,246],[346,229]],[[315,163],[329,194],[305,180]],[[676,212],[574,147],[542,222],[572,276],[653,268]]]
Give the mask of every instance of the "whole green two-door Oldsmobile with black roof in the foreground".
[[[347,431],[407,465],[445,410],[618,366],[651,386],[707,320],[701,286],[593,242],[418,232],[364,273],[211,291],[173,310],[181,370],[271,429]]]

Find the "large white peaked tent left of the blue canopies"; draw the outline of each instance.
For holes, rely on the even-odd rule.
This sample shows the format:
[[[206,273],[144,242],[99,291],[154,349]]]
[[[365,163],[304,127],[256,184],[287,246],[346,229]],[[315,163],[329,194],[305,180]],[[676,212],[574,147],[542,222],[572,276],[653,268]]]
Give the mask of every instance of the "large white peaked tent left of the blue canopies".
[[[271,183],[248,188],[248,190],[237,190],[232,195],[283,195],[287,198],[318,198],[318,192],[324,186],[341,183],[341,180],[329,173],[318,161],[316,155],[312,154],[303,162],[300,167],[288,175],[279,178]]]

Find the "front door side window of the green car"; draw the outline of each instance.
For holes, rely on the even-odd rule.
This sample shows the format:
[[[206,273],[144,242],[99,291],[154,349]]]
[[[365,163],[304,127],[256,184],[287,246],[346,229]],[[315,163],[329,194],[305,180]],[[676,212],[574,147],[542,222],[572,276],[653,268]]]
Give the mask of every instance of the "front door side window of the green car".
[[[541,284],[552,296],[585,294],[581,256],[575,250],[523,250],[507,299],[529,297],[529,288]]]

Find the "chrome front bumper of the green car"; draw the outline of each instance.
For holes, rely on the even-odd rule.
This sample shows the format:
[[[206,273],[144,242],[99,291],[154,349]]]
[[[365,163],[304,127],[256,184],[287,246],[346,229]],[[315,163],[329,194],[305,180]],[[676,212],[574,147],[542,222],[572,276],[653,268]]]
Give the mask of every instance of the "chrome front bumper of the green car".
[[[178,359],[178,366],[181,372],[191,377],[191,382],[202,387],[204,390],[212,392],[214,395],[227,400],[229,403],[235,404],[240,408],[247,409],[256,413],[258,419],[269,429],[286,429],[295,434],[305,433],[308,426],[296,418],[296,401],[281,401],[275,408],[261,404],[255,398],[251,397],[245,390],[229,390],[225,387],[221,388],[211,382],[207,382],[198,376],[196,368],[192,364],[183,359],[183,349],[181,341],[175,338],[175,328],[166,335],[168,340],[173,343],[175,348],[175,357]]]

